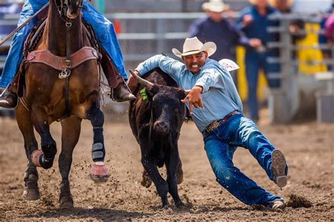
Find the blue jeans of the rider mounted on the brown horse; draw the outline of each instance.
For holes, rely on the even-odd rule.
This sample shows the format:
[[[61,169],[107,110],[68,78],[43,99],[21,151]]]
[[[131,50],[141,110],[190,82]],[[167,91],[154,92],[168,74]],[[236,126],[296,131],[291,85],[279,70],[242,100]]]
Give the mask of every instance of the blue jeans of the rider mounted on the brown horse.
[[[40,8],[42,8],[42,6],[47,4],[47,2],[49,2],[49,0],[25,0],[23,10],[20,13],[20,19],[18,20],[18,25],[22,24],[34,15]],[[99,41],[99,44],[101,44],[106,53],[108,53],[117,71],[124,79],[128,79],[128,75],[124,69],[123,55],[120,51],[120,46],[118,44],[113,24],[104,18],[103,15],[96,11],[86,1],[84,2],[84,8],[82,8],[82,18],[85,22],[92,25],[97,36],[97,41]],[[13,80],[13,77],[18,70],[18,66],[23,59],[25,39],[37,21],[37,18],[35,18],[14,35],[13,41],[11,42],[11,49],[8,53],[4,70],[1,74],[1,88],[6,88]]]

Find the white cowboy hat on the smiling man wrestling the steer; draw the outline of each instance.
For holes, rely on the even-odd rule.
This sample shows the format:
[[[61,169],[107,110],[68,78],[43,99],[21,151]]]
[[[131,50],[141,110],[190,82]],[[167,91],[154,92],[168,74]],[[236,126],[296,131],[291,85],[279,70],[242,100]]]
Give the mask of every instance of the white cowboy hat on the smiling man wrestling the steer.
[[[178,51],[178,49],[173,48],[172,52],[174,55],[182,58],[185,55],[196,54],[202,51],[206,51],[208,56],[214,54],[216,52],[217,46],[212,41],[208,41],[205,44],[202,44],[201,41],[197,39],[197,37],[187,38],[185,39],[185,44],[183,44],[183,53]]]

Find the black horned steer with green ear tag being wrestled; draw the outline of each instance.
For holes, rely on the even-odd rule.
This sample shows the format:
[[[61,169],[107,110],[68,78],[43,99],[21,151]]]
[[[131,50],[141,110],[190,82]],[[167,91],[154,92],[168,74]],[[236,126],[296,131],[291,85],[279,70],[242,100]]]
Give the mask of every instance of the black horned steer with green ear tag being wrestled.
[[[130,102],[129,122],[142,151],[143,178],[148,175],[156,185],[163,208],[168,207],[168,192],[175,206],[182,207],[178,195],[178,182],[181,182],[178,179],[182,177],[178,138],[186,113],[185,104],[180,100],[187,92],[158,68],[144,74],[143,79],[130,72],[140,83],[134,91],[137,99]],[[163,164],[167,169],[166,181],[157,168]]]

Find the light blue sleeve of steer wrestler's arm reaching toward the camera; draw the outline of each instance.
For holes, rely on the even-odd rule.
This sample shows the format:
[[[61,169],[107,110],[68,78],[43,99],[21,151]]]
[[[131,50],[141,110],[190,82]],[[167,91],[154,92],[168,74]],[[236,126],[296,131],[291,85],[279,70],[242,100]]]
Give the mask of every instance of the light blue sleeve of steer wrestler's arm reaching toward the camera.
[[[202,93],[209,91],[210,88],[224,89],[224,82],[221,73],[214,69],[208,69],[203,71],[202,77],[197,79],[195,86],[202,86]]]

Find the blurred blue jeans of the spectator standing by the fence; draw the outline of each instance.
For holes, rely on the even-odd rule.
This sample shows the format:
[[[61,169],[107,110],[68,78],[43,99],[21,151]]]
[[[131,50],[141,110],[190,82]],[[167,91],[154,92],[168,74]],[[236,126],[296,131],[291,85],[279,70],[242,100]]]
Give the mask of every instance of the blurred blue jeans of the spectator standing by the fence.
[[[264,75],[271,89],[280,87],[280,79],[268,78],[268,73],[279,72],[280,65],[277,63],[268,63],[268,57],[277,57],[273,52],[257,53],[255,51],[247,51],[245,55],[246,77],[248,86],[248,100],[247,107],[249,118],[257,121],[259,120],[259,105],[257,99],[257,82],[259,79],[259,68],[264,70]]]

